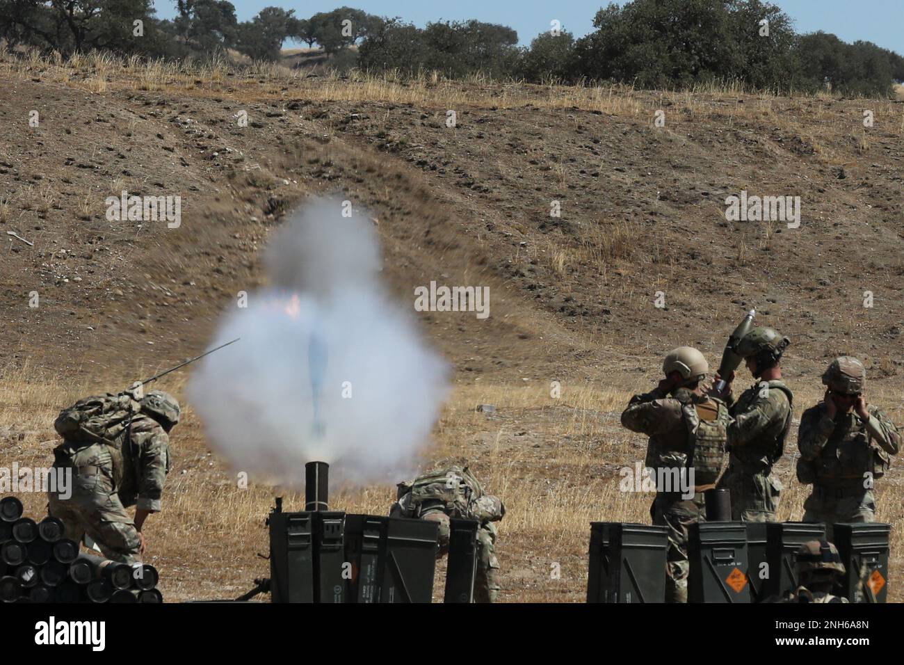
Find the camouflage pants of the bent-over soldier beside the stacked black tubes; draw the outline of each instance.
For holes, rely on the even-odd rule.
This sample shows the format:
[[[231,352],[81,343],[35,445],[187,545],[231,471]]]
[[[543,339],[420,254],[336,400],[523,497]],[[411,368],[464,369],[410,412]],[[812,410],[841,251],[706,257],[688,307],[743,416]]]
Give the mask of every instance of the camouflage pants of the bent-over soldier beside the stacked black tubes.
[[[48,499],[50,514],[66,527],[65,537],[79,543],[87,534],[108,559],[124,564],[137,561],[140,539],[135,522],[102,468],[86,475],[73,469],[71,497],[61,499],[51,492]]]

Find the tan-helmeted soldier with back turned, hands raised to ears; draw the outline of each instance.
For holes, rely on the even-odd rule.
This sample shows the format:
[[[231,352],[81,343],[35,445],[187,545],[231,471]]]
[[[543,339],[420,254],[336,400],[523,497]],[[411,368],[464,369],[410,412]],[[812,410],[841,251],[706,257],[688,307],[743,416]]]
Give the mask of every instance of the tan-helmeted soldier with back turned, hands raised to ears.
[[[709,364],[700,351],[675,348],[665,356],[664,379],[649,393],[634,395],[621,415],[624,427],[650,437],[645,466],[657,479],[661,469],[673,472],[687,467],[689,433],[683,409],[689,404],[714,403],[702,385],[707,372]],[[725,412],[724,406],[721,411]],[[656,488],[650,517],[654,525],[668,527],[669,532],[666,603],[687,603],[688,529],[695,522],[705,521],[703,492],[711,487],[695,485],[690,498],[685,498],[680,489]]]

